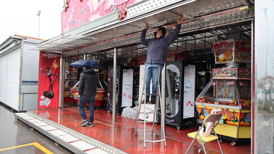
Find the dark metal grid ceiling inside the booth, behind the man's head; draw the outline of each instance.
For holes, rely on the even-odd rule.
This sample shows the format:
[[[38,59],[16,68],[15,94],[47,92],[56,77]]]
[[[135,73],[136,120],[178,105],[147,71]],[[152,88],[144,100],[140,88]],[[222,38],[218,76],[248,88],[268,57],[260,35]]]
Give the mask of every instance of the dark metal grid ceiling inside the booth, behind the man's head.
[[[227,25],[197,32],[196,34],[183,34],[168,48],[168,53],[184,51],[188,57],[213,55],[211,43],[215,42],[214,36],[219,35],[223,40],[243,39],[251,40],[251,22],[246,21],[238,24]],[[117,49],[117,58],[144,57],[147,47],[142,44],[126,45]],[[88,59],[112,60],[113,49],[100,50],[87,53]]]

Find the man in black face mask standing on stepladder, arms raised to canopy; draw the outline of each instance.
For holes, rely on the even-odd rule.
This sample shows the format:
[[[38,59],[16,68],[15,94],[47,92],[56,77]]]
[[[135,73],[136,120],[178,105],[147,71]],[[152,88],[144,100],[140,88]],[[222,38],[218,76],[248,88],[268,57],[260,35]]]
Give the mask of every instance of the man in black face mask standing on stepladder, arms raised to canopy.
[[[147,59],[145,62],[145,69],[144,69],[144,77],[146,69],[149,65],[155,65],[160,67],[160,71],[162,72],[164,63],[166,61],[166,54],[168,50],[168,46],[174,42],[178,36],[181,29],[181,24],[183,21],[183,16],[180,16],[177,20],[177,25],[174,32],[165,37],[166,35],[166,28],[159,27],[154,32],[154,38],[152,39],[145,39],[146,32],[149,29],[149,26],[146,25],[145,29],[141,33],[140,43],[148,46],[147,51]],[[150,93],[150,81],[152,79],[152,94],[156,94],[157,92],[157,83],[158,83],[158,68],[150,67],[148,68],[147,78],[146,78],[146,94]],[[149,101],[149,96],[146,96],[146,102],[149,104],[155,104],[156,96],[151,96],[151,100]],[[141,103],[144,103],[142,100]]]

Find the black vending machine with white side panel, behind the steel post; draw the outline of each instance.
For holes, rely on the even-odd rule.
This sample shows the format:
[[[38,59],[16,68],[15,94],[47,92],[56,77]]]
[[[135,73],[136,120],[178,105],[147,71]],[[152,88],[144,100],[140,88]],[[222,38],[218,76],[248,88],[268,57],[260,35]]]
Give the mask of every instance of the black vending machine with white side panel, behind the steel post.
[[[106,110],[113,110],[112,91],[116,91],[116,114],[121,114],[123,109],[133,106],[133,77],[134,69],[131,67],[117,66],[116,87],[113,88],[113,66],[108,67],[108,88]]]

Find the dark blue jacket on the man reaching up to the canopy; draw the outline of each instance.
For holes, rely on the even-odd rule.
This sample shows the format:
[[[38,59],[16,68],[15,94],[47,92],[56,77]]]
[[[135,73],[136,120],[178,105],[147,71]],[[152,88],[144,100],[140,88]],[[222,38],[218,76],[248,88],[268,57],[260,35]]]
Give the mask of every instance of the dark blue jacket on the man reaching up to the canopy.
[[[161,36],[159,38],[145,39],[147,30],[143,30],[141,33],[140,43],[148,46],[147,60],[146,63],[161,63],[164,64],[166,61],[166,54],[168,46],[174,42],[181,29],[181,24],[177,24],[174,32],[167,36]]]

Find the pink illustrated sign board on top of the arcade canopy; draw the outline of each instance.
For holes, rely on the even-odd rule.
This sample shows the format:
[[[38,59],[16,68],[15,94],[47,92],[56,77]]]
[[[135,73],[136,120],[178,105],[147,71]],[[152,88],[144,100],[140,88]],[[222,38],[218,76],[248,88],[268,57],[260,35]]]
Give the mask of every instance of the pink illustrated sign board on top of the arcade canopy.
[[[70,0],[62,12],[62,33],[141,0]]]

